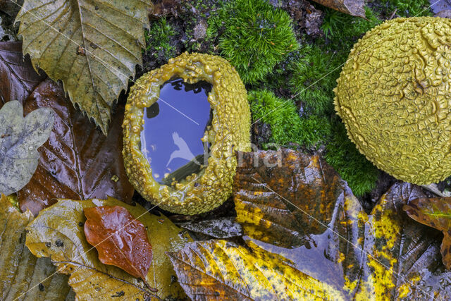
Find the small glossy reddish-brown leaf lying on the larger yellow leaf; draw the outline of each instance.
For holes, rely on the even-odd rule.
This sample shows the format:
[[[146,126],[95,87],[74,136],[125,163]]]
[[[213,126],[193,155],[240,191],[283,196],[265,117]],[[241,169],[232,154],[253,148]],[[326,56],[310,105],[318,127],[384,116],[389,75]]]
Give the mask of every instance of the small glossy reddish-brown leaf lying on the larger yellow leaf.
[[[144,225],[121,206],[91,207],[83,212],[86,240],[96,247],[100,262],[145,281],[152,264],[152,245]]]

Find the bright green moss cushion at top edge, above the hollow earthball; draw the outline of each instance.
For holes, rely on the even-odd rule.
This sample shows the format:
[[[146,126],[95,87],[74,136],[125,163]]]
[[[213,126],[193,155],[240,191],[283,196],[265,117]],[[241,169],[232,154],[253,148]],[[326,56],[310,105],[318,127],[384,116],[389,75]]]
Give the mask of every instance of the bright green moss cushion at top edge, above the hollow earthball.
[[[297,49],[292,20],[266,0],[232,0],[209,19],[208,35],[221,32],[218,47],[245,83],[263,80]]]

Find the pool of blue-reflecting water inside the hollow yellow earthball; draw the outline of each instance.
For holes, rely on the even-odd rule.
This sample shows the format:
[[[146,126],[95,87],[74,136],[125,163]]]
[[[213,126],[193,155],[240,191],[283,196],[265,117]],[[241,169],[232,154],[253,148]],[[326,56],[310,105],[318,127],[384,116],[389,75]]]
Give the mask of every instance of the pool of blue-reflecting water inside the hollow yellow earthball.
[[[204,80],[189,84],[173,78],[163,84],[159,99],[144,109],[141,151],[159,183],[180,181],[208,164],[209,144],[202,137],[211,122],[209,92],[211,85]]]

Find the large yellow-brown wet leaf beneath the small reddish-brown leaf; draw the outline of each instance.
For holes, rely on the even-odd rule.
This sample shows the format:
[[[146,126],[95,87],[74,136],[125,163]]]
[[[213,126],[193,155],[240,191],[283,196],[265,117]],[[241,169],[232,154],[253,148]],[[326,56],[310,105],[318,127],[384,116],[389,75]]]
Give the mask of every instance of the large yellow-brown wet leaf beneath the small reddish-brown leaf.
[[[104,206],[125,207],[147,227],[154,256],[146,280],[158,290],[157,293],[151,292],[141,279],[116,266],[102,264],[97,250],[87,242],[83,230],[86,221],[83,210]],[[111,297],[144,300],[154,294],[161,298],[184,296],[180,285],[173,281],[175,273],[165,252],[180,250],[187,238],[179,235],[180,228],[166,216],[149,214],[140,205],[125,204],[113,198],[85,201],[58,199],[56,204],[40,211],[27,230],[27,247],[37,257],[50,257],[61,273],[70,275],[68,283],[78,300]]]

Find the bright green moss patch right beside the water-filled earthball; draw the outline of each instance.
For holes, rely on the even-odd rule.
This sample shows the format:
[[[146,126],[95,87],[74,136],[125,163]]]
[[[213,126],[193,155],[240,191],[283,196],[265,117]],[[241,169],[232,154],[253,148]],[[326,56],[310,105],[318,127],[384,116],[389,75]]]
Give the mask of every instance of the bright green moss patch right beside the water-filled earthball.
[[[312,147],[330,135],[328,118],[307,116],[300,118],[294,102],[276,97],[268,90],[248,93],[252,120],[261,120],[271,126],[270,143],[287,146],[297,143]]]

